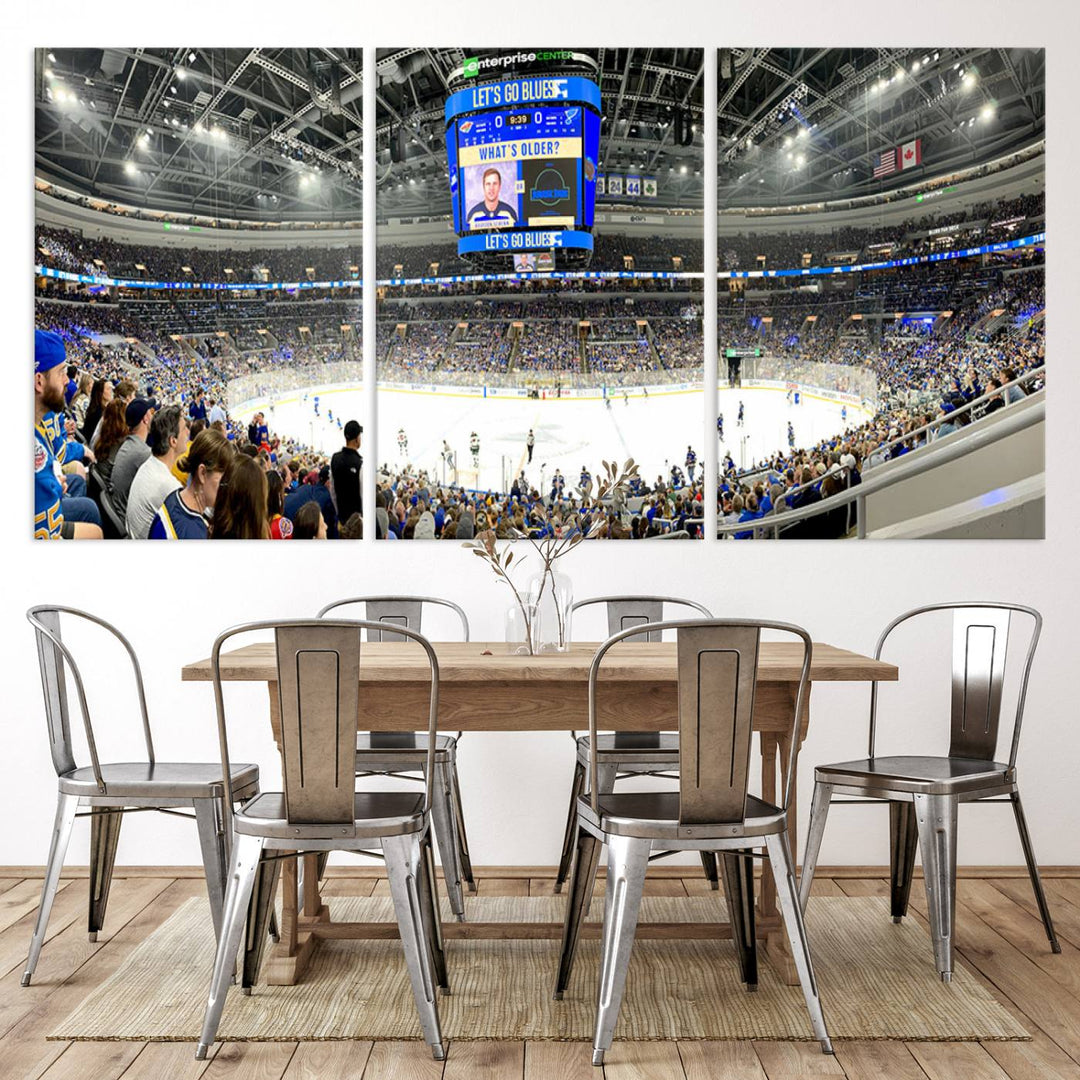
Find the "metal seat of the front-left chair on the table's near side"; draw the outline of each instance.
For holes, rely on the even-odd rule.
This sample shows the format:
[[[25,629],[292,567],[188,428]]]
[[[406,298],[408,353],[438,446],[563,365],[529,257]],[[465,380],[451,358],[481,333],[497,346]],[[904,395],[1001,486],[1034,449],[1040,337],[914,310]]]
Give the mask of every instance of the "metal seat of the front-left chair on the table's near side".
[[[353,824],[296,824],[285,819],[285,796],[265,792],[241,807],[234,818],[238,833],[281,839],[343,839],[399,836],[423,828],[423,796],[411,792],[357,792]]]

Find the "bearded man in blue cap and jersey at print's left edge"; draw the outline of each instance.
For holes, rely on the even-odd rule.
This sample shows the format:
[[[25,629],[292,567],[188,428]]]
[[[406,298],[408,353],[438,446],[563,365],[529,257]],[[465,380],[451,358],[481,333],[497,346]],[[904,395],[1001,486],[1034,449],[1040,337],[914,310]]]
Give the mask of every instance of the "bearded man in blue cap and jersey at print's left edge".
[[[49,330],[33,332],[33,536],[44,540],[100,540],[102,518],[91,499],[65,495],[63,467],[93,455],[69,443],[55,415],[64,409],[66,350]]]

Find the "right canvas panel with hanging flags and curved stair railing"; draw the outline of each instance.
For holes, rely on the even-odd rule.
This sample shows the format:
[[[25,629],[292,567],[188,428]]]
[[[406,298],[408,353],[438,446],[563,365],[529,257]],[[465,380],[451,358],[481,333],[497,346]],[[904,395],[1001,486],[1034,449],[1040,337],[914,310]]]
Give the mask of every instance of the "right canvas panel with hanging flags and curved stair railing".
[[[718,536],[1044,535],[1044,54],[724,49]]]

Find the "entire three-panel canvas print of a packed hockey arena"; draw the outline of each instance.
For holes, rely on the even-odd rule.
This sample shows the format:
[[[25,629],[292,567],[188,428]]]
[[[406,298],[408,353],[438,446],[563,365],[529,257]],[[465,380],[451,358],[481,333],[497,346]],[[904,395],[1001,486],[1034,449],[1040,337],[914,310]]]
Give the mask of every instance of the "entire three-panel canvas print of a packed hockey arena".
[[[33,536],[1042,537],[1044,53],[707,59],[38,50]]]

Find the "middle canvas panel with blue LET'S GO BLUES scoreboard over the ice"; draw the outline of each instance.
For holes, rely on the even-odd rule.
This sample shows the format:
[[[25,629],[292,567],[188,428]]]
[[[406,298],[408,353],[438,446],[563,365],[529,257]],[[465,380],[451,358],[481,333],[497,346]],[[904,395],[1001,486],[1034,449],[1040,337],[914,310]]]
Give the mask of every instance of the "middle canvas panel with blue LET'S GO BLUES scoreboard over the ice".
[[[378,536],[703,536],[703,59],[379,51]]]

